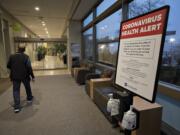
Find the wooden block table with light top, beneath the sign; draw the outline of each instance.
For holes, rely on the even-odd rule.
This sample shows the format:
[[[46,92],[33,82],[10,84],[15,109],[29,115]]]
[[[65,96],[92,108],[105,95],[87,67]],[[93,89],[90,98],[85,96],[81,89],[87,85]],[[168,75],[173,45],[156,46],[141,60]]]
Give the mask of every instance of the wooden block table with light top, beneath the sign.
[[[160,135],[162,106],[135,96],[133,107],[138,112],[139,123],[131,135]]]

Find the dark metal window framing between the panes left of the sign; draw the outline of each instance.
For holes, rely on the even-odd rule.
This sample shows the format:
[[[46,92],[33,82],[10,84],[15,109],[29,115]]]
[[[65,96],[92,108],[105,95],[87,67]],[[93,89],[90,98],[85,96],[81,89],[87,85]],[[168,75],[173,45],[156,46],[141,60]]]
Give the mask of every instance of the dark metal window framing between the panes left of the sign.
[[[115,13],[116,11],[118,11],[119,9],[122,8],[122,10],[124,10],[124,7],[126,7],[126,11],[128,11],[128,3],[131,2],[132,0],[126,0],[124,2],[124,0],[119,0],[117,2],[115,2],[111,7],[109,7],[107,10],[105,10],[102,14],[100,14],[99,16],[96,16],[97,14],[97,6],[99,4],[101,4],[102,0],[98,1],[91,9],[90,11],[85,15],[85,17],[82,19],[81,21],[81,26],[82,26],[82,47],[81,47],[81,50],[82,50],[82,58],[85,59],[85,54],[84,54],[84,51],[85,51],[85,46],[83,45],[84,43],[84,38],[83,38],[83,32],[87,31],[88,29],[90,28],[93,28],[93,50],[94,50],[94,53],[93,53],[93,63],[97,63],[98,62],[98,44],[100,43],[112,43],[112,42],[118,42],[118,39],[115,39],[115,40],[109,40],[109,41],[100,41],[97,43],[97,40],[96,40],[96,24],[101,22],[102,20],[104,20],[106,17],[112,15],[113,13]],[[124,6],[122,6],[124,5]],[[127,13],[127,12],[123,12],[123,13]],[[85,27],[83,27],[83,21],[86,19],[86,17],[88,17],[91,13],[93,13],[93,20],[88,24],[86,25]],[[125,18],[124,16],[127,16],[127,15],[123,15],[122,16],[122,20]],[[127,19],[127,18],[126,18]],[[88,60],[89,61],[89,60]],[[102,62],[100,62],[102,63]],[[103,63],[103,64],[106,64],[107,66],[113,66],[111,64],[108,64],[108,63]]]

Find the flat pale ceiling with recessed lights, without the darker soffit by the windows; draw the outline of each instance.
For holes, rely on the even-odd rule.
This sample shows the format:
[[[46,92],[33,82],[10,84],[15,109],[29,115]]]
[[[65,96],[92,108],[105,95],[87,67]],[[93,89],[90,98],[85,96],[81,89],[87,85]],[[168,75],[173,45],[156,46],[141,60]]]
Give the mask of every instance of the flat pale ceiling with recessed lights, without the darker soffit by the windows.
[[[46,23],[50,37],[60,38],[65,20],[73,5],[73,0],[1,0],[2,6],[24,25],[41,37],[46,31],[41,21]],[[35,11],[35,6],[40,11]]]

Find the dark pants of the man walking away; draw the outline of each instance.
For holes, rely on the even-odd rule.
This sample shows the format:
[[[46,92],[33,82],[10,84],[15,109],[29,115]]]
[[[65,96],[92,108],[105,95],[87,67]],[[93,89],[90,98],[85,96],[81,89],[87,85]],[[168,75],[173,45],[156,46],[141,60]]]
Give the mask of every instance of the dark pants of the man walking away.
[[[30,86],[30,80],[26,79],[23,81],[15,81],[13,80],[13,96],[14,96],[14,108],[20,108],[20,86],[21,82],[24,84],[26,89],[27,100],[32,100],[32,92]]]

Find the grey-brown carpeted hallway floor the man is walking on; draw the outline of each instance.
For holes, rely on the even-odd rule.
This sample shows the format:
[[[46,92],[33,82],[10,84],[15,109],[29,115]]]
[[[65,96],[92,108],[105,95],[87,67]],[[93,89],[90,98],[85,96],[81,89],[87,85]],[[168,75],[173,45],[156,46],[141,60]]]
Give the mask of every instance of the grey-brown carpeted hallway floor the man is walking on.
[[[120,135],[71,75],[39,76],[31,86],[35,99],[26,103],[22,85],[18,114],[12,87],[0,95],[0,135]]]

